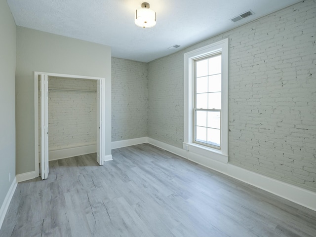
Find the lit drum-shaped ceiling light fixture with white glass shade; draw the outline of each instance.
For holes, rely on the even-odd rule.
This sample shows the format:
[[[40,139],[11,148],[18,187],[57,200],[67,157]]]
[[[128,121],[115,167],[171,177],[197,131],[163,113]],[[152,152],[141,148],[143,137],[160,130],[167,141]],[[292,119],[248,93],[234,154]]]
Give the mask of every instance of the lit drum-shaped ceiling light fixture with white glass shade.
[[[149,9],[148,2],[143,2],[142,8],[136,10],[135,24],[142,28],[150,28],[156,25],[156,12]]]

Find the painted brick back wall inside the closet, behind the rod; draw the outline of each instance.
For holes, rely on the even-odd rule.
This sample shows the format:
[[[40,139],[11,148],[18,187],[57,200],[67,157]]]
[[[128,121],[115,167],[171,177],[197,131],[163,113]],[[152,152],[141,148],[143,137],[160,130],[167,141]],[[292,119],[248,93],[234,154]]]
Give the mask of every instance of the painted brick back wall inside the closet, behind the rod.
[[[96,144],[96,80],[50,77],[48,88],[78,90],[48,91],[49,150]]]

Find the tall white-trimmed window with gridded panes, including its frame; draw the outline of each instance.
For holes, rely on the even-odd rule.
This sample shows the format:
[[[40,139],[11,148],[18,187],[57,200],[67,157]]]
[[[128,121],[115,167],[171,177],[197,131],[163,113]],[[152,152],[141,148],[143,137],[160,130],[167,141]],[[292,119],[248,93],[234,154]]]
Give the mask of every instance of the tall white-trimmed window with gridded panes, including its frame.
[[[184,149],[228,161],[228,39],[184,54]]]

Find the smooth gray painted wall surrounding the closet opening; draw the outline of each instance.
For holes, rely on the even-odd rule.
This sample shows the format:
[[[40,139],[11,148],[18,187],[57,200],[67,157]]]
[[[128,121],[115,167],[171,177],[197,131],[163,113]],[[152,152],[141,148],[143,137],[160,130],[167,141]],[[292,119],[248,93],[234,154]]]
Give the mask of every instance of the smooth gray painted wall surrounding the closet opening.
[[[17,27],[16,50],[16,173],[21,174],[35,170],[34,71],[111,80],[111,48]],[[109,150],[110,133],[106,140]]]

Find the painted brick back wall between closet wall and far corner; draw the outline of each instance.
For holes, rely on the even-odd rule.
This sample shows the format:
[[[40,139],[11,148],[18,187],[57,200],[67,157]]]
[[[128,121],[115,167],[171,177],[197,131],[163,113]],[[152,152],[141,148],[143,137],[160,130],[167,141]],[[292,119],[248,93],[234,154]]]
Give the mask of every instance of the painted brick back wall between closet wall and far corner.
[[[147,63],[112,58],[112,141],[146,137]]]

